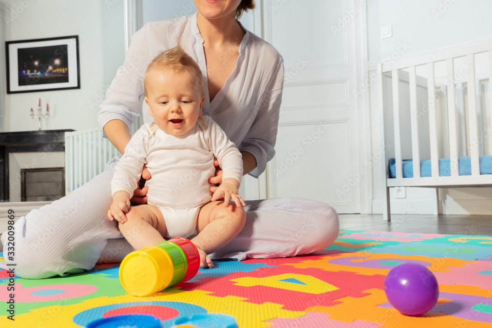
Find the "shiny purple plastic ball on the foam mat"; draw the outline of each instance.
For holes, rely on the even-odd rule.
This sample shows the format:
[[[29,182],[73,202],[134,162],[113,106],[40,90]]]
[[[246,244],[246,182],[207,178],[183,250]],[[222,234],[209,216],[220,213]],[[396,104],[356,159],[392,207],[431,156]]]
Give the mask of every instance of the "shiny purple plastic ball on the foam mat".
[[[418,263],[401,263],[384,280],[384,291],[391,305],[408,316],[429,311],[439,297],[439,285],[432,272]]]

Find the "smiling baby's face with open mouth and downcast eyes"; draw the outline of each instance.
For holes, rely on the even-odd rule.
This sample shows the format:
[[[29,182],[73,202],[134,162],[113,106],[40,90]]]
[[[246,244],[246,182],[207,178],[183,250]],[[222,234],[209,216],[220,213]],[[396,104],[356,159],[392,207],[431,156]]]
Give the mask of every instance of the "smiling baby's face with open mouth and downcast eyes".
[[[202,114],[205,96],[196,77],[185,71],[155,68],[147,75],[145,101],[157,126],[168,134],[180,136],[195,126]]]

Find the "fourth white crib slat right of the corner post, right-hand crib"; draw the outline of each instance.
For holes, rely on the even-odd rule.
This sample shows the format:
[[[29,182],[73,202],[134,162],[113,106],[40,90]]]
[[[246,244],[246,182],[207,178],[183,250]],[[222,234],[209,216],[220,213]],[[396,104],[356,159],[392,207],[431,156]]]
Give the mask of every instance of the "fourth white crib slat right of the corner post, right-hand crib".
[[[451,164],[451,176],[459,176],[458,169],[458,112],[455,99],[455,69],[452,58],[446,60],[447,64],[447,92],[448,92],[448,125],[449,125],[449,158]]]

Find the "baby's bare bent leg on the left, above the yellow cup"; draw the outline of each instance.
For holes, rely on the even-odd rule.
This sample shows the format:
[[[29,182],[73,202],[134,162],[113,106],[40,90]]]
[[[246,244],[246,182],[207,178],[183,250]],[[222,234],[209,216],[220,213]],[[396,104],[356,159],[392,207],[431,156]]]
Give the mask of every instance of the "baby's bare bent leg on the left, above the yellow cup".
[[[138,250],[165,241],[162,237],[167,234],[164,217],[155,206],[132,206],[126,213],[126,218],[118,227],[133,248]]]

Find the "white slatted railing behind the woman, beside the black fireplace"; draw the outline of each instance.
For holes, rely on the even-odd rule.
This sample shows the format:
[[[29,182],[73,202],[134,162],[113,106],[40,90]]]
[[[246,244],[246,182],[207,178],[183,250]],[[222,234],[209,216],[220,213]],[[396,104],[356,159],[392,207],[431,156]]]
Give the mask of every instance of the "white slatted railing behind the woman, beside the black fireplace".
[[[65,195],[104,171],[120,155],[99,127],[65,132]]]

